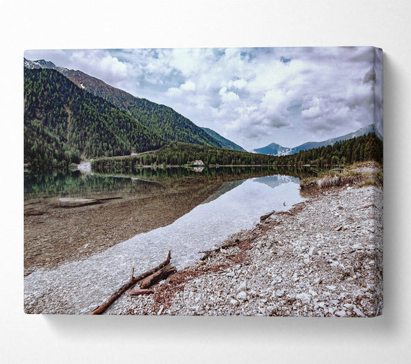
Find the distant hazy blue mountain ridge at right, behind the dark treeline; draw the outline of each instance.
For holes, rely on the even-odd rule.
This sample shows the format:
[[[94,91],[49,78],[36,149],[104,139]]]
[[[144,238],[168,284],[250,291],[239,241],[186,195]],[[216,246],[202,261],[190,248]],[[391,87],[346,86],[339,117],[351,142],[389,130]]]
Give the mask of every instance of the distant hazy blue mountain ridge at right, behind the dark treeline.
[[[279,144],[271,143],[262,148],[253,149],[251,153],[259,153],[259,154],[275,155],[275,156],[292,155],[292,154],[298,153],[299,151],[307,151],[308,149],[312,149],[312,148],[320,148],[321,146],[334,145],[336,142],[343,142],[345,140],[356,138],[358,136],[366,135],[369,133],[375,133],[375,135],[377,136],[379,140],[383,140],[382,135],[379,133],[375,125],[370,124],[370,125],[366,125],[365,127],[358,129],[357,131],[354,131],[353,133],[348,133],[348,134],[345,134],[345,135],[342,135],[336,138],[330,138],[327,140],[323,140],[322,142],[306,142],[299,146],[295,146],[294,148],[287,148]]]

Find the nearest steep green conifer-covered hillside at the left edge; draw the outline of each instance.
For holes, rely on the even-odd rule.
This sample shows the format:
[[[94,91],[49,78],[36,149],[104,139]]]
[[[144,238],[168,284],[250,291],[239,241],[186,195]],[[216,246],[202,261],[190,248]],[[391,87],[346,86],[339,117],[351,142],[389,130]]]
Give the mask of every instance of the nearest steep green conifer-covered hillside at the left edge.
[[[24,72],[25,163],[65,168],[80,157],[110,157],[164,145],[154,131],[56,70]]]

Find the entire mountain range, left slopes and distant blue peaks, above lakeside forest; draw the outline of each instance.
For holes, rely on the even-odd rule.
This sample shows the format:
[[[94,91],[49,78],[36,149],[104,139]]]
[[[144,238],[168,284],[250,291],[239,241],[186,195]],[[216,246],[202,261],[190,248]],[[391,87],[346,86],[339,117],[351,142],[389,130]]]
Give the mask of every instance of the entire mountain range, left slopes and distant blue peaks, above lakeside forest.
[[[40,157],[39,164],[54,166],[60,161],[76,162],[81,157],[150,151],[169,142],[245,152],[238,144],[212,129],[198,127],[171,107],[133,96],[81,70],[46,60],[24,59],[24,67],[26,162],[33,164]],[[367,125],[322,142],[307,142],[294,148],[271,143],[251,153],[292,155],[368,133],[375,133],[382,140],[375,125]]]

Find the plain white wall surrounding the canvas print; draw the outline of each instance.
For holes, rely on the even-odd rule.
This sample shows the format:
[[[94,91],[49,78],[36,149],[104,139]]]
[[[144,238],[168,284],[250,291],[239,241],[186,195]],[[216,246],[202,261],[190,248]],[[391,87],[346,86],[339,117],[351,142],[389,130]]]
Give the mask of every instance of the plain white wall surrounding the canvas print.
[[[408,363],[410,1],[2,1],[2,363]],[[25,49],[340,46],[384,56],[384,289],[375,319],[23,314]],[[5,200],[5,204],[4,204]]]

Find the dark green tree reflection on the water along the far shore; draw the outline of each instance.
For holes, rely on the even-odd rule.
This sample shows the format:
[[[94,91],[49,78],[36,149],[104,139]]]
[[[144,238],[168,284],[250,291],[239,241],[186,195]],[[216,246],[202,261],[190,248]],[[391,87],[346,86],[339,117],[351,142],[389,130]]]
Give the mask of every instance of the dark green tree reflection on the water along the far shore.
[[[201,173],[195,169],[200,168]],[[92,196],[98,194],[147,192],[150,188],[159,189],[169,185],[178,185],[184,179],[195,178],[195,183],[224,183],[282,174],[293,177],[306,177],[312,174],[309,168],[269,168],[269,167],[221,167],[221,168],[138,168],[137,170],[110,170],[106,174],[84,173],[79,170],[72,172],[48,172],[45,174],[24,174],[24,196],[63,197]],[[274,183],[273,180],[263,180],[261,183]],[[155,185],[155,183],[160,183]],[[186,183],[186,181],[184,181]]]

